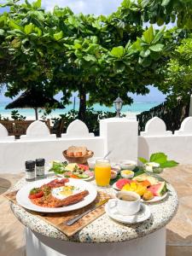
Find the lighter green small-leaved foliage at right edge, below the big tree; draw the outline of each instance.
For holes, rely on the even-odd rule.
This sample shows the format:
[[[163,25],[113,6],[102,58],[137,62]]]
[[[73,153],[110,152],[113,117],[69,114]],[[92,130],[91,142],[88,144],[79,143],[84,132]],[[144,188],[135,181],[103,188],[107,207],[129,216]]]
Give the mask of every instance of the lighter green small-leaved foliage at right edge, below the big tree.
[[[182,40],[172,52],[172,58],[162,69],[165,80],[160,83],[160,90],[169,93],[167,98],[172,106],[177,105],[177,98],[188,102],[192,94],[192,35]]]

